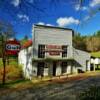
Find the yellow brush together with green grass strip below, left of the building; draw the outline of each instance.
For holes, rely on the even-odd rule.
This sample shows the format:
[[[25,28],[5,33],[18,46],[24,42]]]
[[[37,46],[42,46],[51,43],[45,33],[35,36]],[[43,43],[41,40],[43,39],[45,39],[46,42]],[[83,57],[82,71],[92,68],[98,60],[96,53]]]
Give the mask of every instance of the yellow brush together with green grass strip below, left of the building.
[[[18,65],[18,62],[14,58],[9,59],[9,65],[6,62],[6,83],[2,85],[2,70],[3,63],[0,58],[0,89],[9,88],[24,88],[32,85],[30,80],[26,80],[22,76],[22,68]]]

